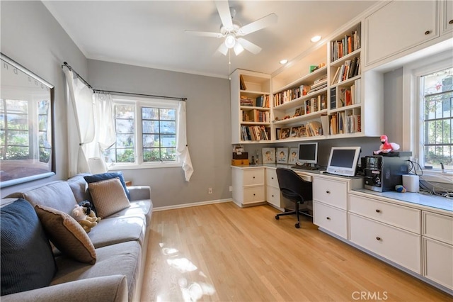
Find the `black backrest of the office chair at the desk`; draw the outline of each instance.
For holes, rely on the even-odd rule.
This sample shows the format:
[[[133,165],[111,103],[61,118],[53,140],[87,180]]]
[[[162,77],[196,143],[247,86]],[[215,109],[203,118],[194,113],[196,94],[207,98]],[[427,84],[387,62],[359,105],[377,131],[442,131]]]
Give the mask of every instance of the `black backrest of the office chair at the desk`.
[[[299,201],[311,201],[313,199],[310,181],[305,181],[292,169],[277,168],[278,186],[283,196]]]

